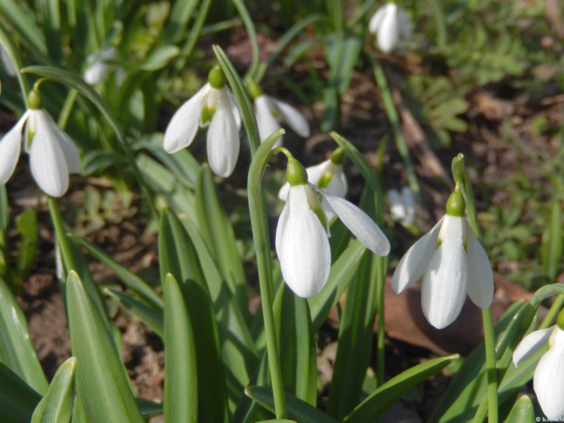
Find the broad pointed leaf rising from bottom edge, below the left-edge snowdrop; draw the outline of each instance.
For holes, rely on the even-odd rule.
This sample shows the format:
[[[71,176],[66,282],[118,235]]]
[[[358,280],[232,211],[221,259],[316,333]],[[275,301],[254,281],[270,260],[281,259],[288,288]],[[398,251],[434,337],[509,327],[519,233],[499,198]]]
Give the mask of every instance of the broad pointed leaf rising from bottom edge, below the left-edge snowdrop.
[[[67,280],[67,305],[70,345],[78,360],[76,389],[86,420],[143,423],[113,340],[74,271]]]

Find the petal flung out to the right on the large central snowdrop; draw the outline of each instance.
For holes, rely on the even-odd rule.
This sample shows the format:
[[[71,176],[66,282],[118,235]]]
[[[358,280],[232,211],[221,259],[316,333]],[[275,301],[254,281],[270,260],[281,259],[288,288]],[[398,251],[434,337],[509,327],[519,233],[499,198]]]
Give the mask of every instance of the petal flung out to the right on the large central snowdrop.
[[[356,236],[360,242],[367,246],[374,254],[388,255],[390,253],[390,241],[384,232],[369,217],[350,201],[331,195],[317,187],[312,186],[315,191],[321,193],[329,205],[337,213],[338,217],[347,228]]]

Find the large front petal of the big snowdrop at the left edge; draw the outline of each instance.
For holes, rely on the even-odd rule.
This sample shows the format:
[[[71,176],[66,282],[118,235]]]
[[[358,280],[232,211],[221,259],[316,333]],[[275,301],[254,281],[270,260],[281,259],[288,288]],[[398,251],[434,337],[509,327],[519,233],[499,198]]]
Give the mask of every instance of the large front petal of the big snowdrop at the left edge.
[[[37,114],[37,132],[29,148],[33,178],[39,188],[53,197],[61,197],[69,187],[69,171],[63,149],[42,114]]]

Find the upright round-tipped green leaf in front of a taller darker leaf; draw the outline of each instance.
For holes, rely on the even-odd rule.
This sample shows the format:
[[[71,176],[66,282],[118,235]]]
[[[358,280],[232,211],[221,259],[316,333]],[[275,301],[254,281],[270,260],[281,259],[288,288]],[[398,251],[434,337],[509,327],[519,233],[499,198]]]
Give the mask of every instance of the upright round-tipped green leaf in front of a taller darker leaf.
[[[182,289],[172,274],[165,276],[162,287],[166,305],[165,421],[197,422],[199,368],[192,320]]]

